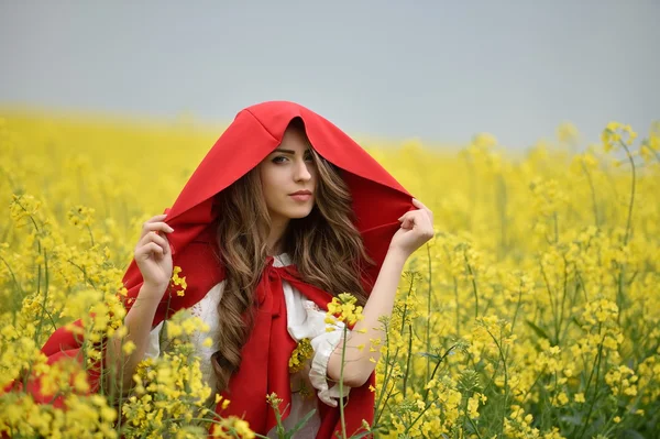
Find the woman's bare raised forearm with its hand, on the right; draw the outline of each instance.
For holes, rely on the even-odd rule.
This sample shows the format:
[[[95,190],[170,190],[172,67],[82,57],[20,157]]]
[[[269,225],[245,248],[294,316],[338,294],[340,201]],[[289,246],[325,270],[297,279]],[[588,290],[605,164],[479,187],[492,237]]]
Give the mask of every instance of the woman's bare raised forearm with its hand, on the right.
[[[396,289],[406,260],[435,235],[433,213],[415,198],[413,204],[418,209],[399,218],[400,229],[392,238],[376,283],[364,306],[364,319],[355,323],[346,340],[343,383],[350,387],[360,387],[366,383],[381,358],[381,347],[374,347],[372,352],[370,340],[385,339],[383,325],[378,320],[382,316],[392,316]],[[333,381],[340,380],[342,345],[343,340],[328,361],[328,376]]]

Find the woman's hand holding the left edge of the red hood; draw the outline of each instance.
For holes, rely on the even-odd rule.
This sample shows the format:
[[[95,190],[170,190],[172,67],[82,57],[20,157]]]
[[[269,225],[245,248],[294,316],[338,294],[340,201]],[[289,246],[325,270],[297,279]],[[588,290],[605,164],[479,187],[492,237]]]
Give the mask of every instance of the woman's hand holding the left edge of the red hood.
[[[172,250],[166,233],[174,231],[163,222],[167,215],[156,215],[142,226],[142,234],[135,245],[134,259],[142,278],[145,292],[155,294],[154,299],[161,300],[167,290],[172,278]],[[142,294],[141,294],[142,295]]]

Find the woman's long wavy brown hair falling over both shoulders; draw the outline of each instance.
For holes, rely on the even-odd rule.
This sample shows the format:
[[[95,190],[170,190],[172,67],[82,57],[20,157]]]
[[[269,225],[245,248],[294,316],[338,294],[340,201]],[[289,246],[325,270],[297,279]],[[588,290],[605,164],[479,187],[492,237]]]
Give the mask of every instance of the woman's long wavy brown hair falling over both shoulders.
[[[289,127],[305,132],[300,119],[294,119]],[[316,204],[307,217],[289,221],[284,252],[292,256],[302,281],[333,296],[351,293],[364,305],[361,274],[373,261],[353,224],[351,193],[341,169],[314,147],[310,152],[318,169]],[[219,350],[211,356],[211,364],[221,392],[241,365],[241,349],[252,329],[254,289],[266,264],[271,219],[256,167],[218,194],[216,201],[220,212],[217,242],[226,284],[218,305]]]

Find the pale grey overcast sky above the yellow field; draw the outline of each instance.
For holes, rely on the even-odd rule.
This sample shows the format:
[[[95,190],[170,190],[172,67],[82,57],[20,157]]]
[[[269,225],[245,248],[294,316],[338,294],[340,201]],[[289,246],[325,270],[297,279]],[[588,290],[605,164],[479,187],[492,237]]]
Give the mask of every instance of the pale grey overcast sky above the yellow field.
[[[658,0],[134,3],[2,0],[0,107],[229,122],[286,99],[359,136],[515,149],[660,119]]]

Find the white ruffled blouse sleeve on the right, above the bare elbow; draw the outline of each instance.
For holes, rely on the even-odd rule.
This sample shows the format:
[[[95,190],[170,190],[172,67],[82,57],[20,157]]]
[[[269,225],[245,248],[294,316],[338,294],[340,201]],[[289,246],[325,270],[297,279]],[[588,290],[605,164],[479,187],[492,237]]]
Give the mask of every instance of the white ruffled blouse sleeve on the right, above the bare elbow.
[[[326,323],[326,312],[319,309],[314,301],[307,300],[286,282],[283,287],[288,332],[296,341],[308,338],[314,349],[309,382],[317,389],[319,399],[331,407],[337,407],[340,397],[339,384],[329,383],[328,361],[341,341],[344,325],[338,320],[334,320],[334,325]],[[333,327],[334,330],[328,332],[327,327]],[[349,395],[351,387],[344,385],[342,396]]]

